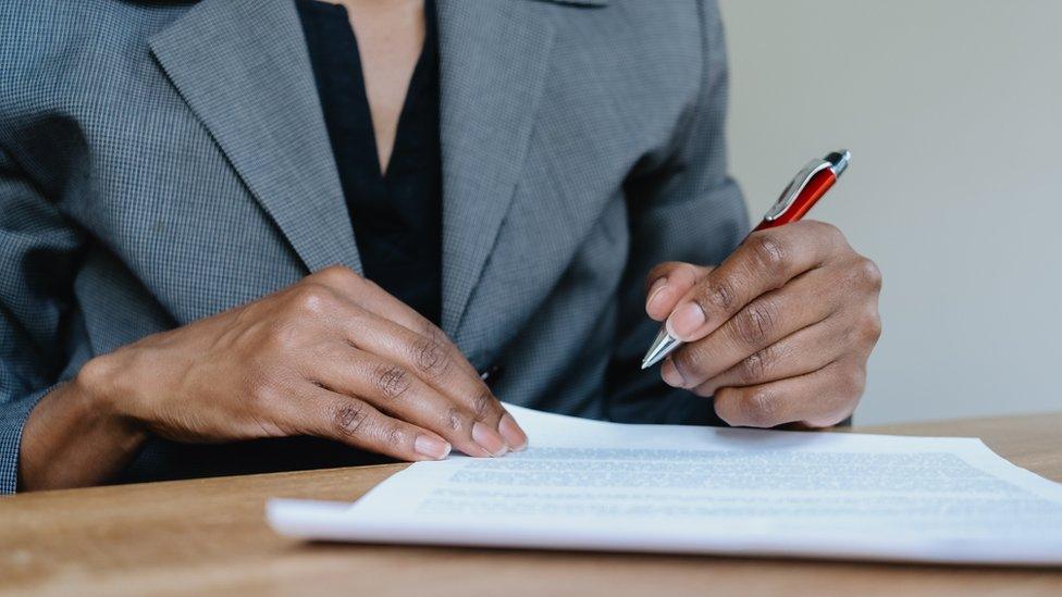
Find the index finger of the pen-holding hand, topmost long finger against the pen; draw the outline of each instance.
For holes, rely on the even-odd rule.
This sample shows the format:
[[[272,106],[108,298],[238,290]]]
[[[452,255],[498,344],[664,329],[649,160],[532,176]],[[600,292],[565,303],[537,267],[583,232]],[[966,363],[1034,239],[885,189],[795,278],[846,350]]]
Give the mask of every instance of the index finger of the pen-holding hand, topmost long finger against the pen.
[[[837,228],[812,221],[749,235],[679,300],[668,333],[687,343],[705,337],[756,297],[823,264],[842,244]]]

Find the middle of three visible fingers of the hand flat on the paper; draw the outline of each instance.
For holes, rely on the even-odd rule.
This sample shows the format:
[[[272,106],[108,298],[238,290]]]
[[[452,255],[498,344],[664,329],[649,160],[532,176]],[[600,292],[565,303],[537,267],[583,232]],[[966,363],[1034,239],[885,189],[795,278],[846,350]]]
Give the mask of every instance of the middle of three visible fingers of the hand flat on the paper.
[[[421,381],[407,365],[334,343],[319,348],[306,374],[328,389],[368,402],[381,412],[431,430],[476,457],[503,456],[505,440],[476,413]]]

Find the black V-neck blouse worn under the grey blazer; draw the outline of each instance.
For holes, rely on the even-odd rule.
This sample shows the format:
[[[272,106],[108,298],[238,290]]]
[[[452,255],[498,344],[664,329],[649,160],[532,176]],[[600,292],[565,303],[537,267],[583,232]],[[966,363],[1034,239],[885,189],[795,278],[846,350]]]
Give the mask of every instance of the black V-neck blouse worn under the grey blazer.
[[[339,4],[296,0],[366,277],[434,323],[442,311],[442,158],[434,2],[386,174],[358,43]]]

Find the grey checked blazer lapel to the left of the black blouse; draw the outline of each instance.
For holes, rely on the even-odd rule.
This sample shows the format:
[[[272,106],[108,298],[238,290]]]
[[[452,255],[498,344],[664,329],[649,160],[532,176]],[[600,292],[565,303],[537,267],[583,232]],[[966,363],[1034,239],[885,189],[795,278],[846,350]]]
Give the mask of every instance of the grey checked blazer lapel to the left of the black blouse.
[[[203,0],[150,46],[306,266],[360,272],[294,2]]]

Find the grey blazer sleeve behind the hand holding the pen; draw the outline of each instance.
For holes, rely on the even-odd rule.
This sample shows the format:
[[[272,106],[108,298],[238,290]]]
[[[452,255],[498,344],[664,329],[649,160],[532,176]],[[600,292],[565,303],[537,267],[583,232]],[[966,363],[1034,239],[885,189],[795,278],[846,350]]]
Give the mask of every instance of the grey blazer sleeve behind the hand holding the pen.
[[[607,414],[616,421],[716,424],[709,399],[640,371],[659,324],[645,314],[645,276],[663,261],[720,263],[749,231],[738,185],[727,174],[726,43],[714,0],[699,3],[700,91],[677,127],[670,153],[626,185],[631,248],[620,286],[619,337],[608,369]]]

